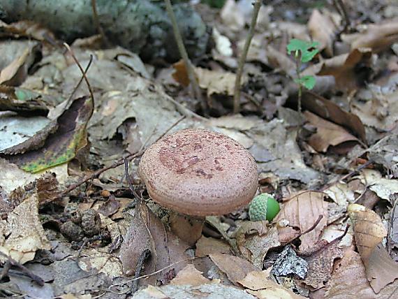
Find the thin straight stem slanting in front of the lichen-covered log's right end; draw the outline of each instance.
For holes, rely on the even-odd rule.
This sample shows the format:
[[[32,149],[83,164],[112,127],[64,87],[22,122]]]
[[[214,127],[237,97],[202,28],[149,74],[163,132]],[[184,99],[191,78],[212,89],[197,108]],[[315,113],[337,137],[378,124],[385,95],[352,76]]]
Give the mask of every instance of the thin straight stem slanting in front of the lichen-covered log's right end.
[[[175,41],[177,42],[178,52],[182,59],[184,60],[186,73],[188,73],[189,81],[191,82],[193,88],[193,94],[200,101],[200,105],[202,106],[203,113],[207,112],[207,105],[205,100],[202,98],[202,92],[200,91],[200,87],[198,85],[198,80],[196,80],[195,71],[193,70],[193,66],[191,64],[191,60],[188,57],[188,53],[186,52],[186,48],[184,46],[184,41],[182,40],[181,32],[179,31],[179,27],[177,24],[177,19],[175,17],[175,13],[172,10],[172,5],[170,0],[165,0],[165,7],[168,12],[168,16],[170,17],[172,24],[172,31],[174,33]]]

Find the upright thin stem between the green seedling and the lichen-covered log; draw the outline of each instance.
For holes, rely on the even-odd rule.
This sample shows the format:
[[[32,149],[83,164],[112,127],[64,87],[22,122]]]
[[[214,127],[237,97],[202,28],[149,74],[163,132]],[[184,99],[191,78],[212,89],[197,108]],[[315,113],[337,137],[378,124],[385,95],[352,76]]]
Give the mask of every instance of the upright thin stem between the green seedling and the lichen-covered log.
[[[236,79],[235,79],[235,91],[234,91],[234,98],[233,98],[233,112],[234,113],[239,113],[239,111],[240,111],[240,81],[242,79],[243,67],[244,67],[244,62],[246,61],[247,52],[249,52],[251,38],[253,38],[254,30],[256,29],[258,11],[260,10],[260,7],[261,7],[261,0],[256,0],[256,3],[254,3],[254,8],[253,8],[253,15],[251,15],[249,34],[247,35],[246,41],[244,42],[243,52],[242,52],[242,55],[240,56],[239,64],[237,66]]]

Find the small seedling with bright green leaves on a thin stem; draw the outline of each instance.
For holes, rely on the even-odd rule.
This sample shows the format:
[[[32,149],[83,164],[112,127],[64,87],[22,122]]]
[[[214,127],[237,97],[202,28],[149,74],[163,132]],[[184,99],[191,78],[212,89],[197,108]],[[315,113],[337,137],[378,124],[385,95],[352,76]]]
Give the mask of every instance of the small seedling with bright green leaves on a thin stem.
[[[288,54],[294,52],[296,59],[296,75],[295,82],[299,87],[298,92],[298,108],[297,110],[301,112],[301,97],[302,97],[302,87],[307,89],[313,89],[316,83],[315,77],[313,75],[300,75],[300,69],[303,62],[311,61],[316,54],[318,54],[319,49],[316,48],[318,46],[318,42],[316,41],[301,41],[300,39],[293,38],[290,40],[290,43],[286,47],[288,50]]]

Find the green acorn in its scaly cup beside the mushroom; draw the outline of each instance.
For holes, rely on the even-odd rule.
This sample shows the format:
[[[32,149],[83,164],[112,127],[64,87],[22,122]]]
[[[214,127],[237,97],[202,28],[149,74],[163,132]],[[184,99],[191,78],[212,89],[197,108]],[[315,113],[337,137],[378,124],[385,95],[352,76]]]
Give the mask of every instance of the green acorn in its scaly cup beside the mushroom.
[[[251,200],[249,217],[251,221],[272,221],[279,213],[279,203],[270,194],[260,194]]]

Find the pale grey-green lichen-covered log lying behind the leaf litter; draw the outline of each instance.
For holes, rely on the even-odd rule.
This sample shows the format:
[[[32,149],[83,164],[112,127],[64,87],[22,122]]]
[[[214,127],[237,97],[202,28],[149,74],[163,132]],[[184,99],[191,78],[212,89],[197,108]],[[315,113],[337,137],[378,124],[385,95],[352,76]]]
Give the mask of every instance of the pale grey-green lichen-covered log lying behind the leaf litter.
[[[97,0],[98,19],[112,43],[140,54],[143,59],[179,58],[163,1]],[[205,53],[209,34],[191,6],[174,6],[186,48],[191,57]],[[96,34],[91,0],[0,0],[5,22],[32,20],[71,42]]]

